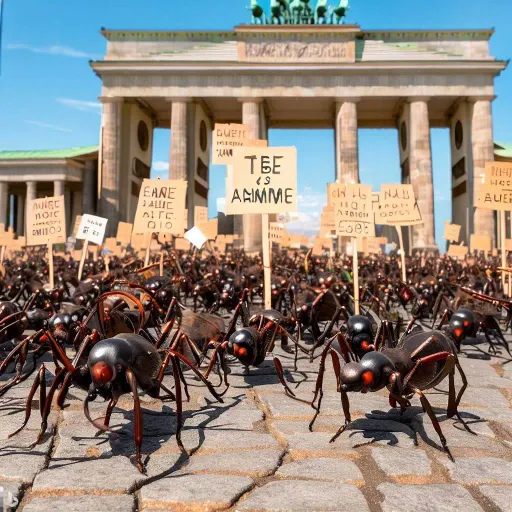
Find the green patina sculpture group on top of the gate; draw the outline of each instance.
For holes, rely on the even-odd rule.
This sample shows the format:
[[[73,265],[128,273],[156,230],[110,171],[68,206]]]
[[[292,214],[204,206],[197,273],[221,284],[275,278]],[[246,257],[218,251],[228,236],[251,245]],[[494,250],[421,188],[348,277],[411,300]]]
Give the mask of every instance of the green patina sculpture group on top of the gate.
[[[328,0],[317,0],[315,8],[310,6],[310,0],[271,0],[270,16],[267,18],[265,11],[258,0],[251,0],[253,24],[272,25],[321,25],[344,22],[349,10],[349,0],[340,0],[334,7],[327,4]]]

